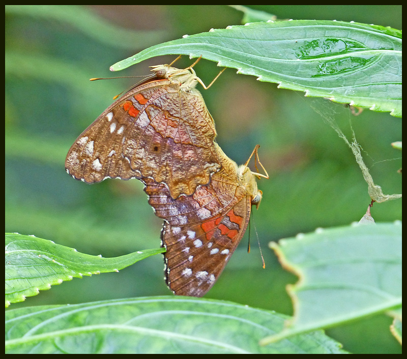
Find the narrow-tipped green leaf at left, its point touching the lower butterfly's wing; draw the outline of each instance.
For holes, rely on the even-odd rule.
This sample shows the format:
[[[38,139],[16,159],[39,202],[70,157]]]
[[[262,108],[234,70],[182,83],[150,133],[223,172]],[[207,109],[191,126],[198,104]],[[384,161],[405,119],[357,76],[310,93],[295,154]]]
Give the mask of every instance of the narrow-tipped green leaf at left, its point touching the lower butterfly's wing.
[[[115,258],[82,254],[31,235],[6,233],[6,307],[73,277],[118,272],[135,262],[165,252],[149,249]]]

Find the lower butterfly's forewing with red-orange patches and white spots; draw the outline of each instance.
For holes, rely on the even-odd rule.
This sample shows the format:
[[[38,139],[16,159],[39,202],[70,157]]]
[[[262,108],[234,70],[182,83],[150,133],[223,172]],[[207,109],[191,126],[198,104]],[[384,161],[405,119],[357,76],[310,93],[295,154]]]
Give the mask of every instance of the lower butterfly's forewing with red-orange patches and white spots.
[[[242,208],[239,208],[242,207]],[[164,224],[162,241],[166,248],[166,281],[177,295],[202,296],[212,288],[236,250],[248,224],[249,215],[233,213],[250,208],[243,198],[226,215],[193,226]]]

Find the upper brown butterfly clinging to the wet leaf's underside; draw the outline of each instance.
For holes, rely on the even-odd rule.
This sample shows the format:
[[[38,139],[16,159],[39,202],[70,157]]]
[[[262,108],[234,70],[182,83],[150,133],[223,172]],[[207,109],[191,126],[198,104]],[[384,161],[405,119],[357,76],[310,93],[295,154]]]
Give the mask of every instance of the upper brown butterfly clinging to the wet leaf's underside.
[[[184,70],[171,67],[173,62],[152,66],[151,78],[110,105],[76,139],[65,160],[67,172],[86,183],[151,177],[165,184],[172,198],[209,183],[221,165],[214,120],[195,88],[202,83],[192,69],[196,62]]]

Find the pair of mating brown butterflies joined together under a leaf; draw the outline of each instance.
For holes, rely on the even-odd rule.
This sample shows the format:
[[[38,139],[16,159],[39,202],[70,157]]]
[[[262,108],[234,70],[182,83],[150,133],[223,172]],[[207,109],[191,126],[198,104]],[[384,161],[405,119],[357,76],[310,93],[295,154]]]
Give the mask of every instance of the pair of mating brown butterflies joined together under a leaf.
[[[154,66],[152,78],[109,106],[77,138],[65,167],[86,183],[142,181],[150,205],[164,219],[169,288],[177,295],[202,296],[239,244],[251,205],[261,200],[255,176],[264,175],[250,171],[250,158],[238,167],[223,153],[195,89],[202,82],[192,66],[171,65]]]

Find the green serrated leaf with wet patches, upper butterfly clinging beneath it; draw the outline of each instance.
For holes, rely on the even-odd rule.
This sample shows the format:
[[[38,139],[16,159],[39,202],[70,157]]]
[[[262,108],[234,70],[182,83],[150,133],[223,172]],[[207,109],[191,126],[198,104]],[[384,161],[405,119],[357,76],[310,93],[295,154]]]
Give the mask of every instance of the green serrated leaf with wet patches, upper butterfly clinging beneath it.
[[[401,32],[355,22],[254,22],[152,46],[111,66],[166,54],[202,56],[281,88],[401,116]]]

